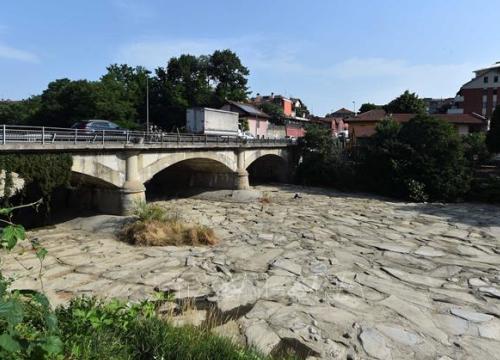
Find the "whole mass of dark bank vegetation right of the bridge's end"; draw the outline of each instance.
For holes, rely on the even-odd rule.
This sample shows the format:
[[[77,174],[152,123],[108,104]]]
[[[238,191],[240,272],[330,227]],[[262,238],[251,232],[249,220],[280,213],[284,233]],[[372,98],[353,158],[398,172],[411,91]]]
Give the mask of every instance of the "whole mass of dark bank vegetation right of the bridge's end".
[[[460,136],[451,124],[423,114],[402,125],[388,117],[365,144],[341,145],[328,129],[309,128],[298,181],[410,201],[480,200],[476,170],[490,158],[483,134]],[[498,192],[500,181],[491,184],[485,194]]]

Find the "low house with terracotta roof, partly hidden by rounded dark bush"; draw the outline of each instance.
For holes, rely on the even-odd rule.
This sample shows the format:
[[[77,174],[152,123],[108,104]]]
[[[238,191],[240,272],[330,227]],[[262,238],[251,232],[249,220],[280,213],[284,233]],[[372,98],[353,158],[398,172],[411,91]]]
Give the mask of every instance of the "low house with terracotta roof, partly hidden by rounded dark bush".
[[[398,123],[405,123],[414,118],[416,114],[388,114],[383,109],[376,109],[352,116],[345,119],[345,122],[349,124],[351,137],[363,138],[375,134],[377,123],[388,116],[391,116]],[[478,114],[434,114],[433,116],[453,124],[460,135],[486,131],[487,128],[486,118]]]

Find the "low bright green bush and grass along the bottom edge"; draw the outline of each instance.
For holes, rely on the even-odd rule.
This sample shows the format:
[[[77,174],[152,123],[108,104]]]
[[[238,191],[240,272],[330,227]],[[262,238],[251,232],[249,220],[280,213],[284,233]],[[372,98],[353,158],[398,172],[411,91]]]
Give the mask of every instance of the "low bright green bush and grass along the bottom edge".
[[[266,359],[208,329],[174,327],[156,315],[154,304],[72,300],[57,310],[66,355],[96,360]]]

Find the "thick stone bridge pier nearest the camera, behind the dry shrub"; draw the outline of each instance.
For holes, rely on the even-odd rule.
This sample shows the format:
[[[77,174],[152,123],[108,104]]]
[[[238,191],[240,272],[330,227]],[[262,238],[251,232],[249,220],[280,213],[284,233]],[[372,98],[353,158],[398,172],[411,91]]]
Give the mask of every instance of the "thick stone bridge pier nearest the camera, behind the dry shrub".
[[[126,159],[125,183],[120,191],[120,215],[130,215],[138,202],[146,201],[146,188],[140,181],[138,154],[130,153]]]

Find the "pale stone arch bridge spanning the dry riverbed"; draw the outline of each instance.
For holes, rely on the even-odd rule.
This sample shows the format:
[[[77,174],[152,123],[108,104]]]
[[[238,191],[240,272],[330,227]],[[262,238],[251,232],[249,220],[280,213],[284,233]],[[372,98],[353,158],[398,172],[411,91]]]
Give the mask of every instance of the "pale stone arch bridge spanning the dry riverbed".
[[[148,184],[160,190],[176,180],[187,187],[248,189],[250,182],[289,180],[295,144],[286,141],[168,144],[4,144],[0,151],[59,152],[73,158],[73,181],[85,186],[77,201],[110,214],[128,214],[146,199]]]

